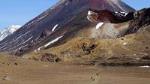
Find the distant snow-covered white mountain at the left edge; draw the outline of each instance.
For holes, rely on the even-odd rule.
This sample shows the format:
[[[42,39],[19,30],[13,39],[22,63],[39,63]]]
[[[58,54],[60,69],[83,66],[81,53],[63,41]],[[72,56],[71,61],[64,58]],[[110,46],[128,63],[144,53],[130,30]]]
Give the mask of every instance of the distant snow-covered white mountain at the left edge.
[[[11,25],[3,30],[0,31],[0,41],[6,38],[8,35],[13,34],[17,31],[21,26],[20,25]]]

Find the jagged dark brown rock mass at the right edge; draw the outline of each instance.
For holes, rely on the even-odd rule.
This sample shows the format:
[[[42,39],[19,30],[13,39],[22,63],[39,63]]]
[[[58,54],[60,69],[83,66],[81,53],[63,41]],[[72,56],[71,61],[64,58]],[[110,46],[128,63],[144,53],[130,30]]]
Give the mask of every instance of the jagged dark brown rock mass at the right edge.
[[[145,8],[134,14],[134,19],[130,22],[129,30],[126,34],[135,33],[148,25],[150,25],[150,8]]]

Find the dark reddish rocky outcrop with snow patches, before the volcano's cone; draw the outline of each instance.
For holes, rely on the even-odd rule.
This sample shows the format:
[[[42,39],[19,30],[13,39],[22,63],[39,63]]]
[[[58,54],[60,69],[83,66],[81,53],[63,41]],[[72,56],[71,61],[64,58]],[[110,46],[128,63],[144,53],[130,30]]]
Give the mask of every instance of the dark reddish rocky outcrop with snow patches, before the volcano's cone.
[[[110,22],[110,23],[123,23],[134,18],[134,11],[126,12],[111,12],[108,10],[93,10],[88,12],[88,19],[91,22]]]

